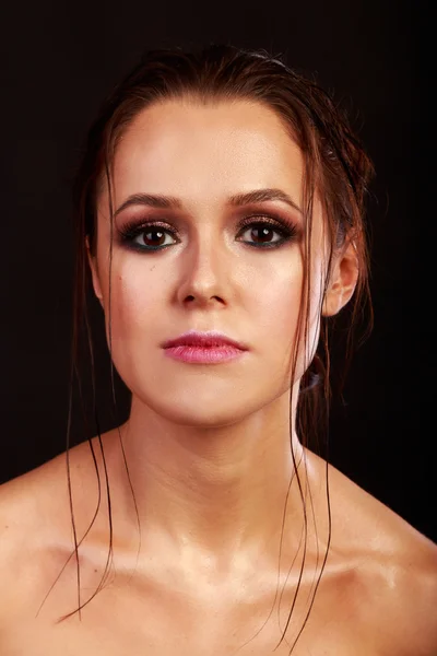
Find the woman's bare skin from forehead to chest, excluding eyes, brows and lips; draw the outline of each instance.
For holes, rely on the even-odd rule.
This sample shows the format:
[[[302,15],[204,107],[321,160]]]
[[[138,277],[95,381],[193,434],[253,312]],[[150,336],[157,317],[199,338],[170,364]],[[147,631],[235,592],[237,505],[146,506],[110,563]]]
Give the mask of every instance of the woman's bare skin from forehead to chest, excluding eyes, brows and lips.
[[[231,196],[262,188],[286,191],[296,208],[282,201],[229,207]],[[63,460],[58,457],[3,485],[0,511],[8,540],[0,563],[11,589],[14,577],[19,590],[2,609],[8,621],[0,618],[5,654],[57,654],[72,645],[71,654],[121,649],[218,656],[234,654],[250,639],[239,653],[271,653],[285,629],[304,558],[292,434],[309,514],[300,593],[287,643],[276,651],[290,653],[329,540],[327,470],[298,441],[295,403],[317,344],[320,314],[334,315],[347,303],[358,273],[354,248],[346,242],[335,254],[323,295],[329,244],[316,199],[309,347],[296,341],[304,276],[302,189],[297,144],[279,117],[256,103],[166,102],[144,110],[123,133],[114,163],[114,207],[142,192],[177,197],[180,208],[134,204],[119,211],[109,269],[104,188],[97,248],[88,251],[113,360],[132,391],[129,420],[103,435],[114,520],[113,577],[83,610],[84,626],[69,620],[54,629],[55,618],[76,607],[70,561],[34,619],[35,599],[44,598],[72,548]],[[271,249],[245,244],[257,234],[246,226],[241,236],[238,220],[255,216],[256,222],[272,213],[295,224],[295,237]],[[117,238],[117,229],[127,221],[151,218],[178,230],[177,239],[166,236],[168,248],[139,253]],[[162,342],[190,328],[224,331],[244,341],[248,351],[220,365],[167,358]],[[93,443],[98,450],[97,440]],[[97,464],[104,477],[98,453]],[[71,469],[80,539],[93,518],[97,494],[86,444],[72,449]],[[437,600],[432,583],[435,546],[334,468],[329,476],[330,554],[293,654],[430,656],[437,645],[429,612]],[[95,590],[106,564],[107,509],[104,497],[81,546],[82,601]],[[32,540],[38,542],[23,540],[17,514],[27,518],[26,535],[37,535]],[[33,523],[42,516],[47,522],[36,531]],[[19,576],[31,549],[26,575]],[[280,590],[284,586],[280,605],[279,581]],[[28,640],[10,629],[23,625],[24,617]]]

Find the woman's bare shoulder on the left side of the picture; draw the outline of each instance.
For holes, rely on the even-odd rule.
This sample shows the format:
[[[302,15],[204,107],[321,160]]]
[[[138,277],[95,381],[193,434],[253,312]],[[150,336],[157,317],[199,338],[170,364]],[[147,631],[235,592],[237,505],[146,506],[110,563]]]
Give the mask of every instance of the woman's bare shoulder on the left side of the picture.
[[[76,491],[84,453],[82,445],[70,449]],[[26,599],[44,596],[71,544],[66,453],[0,485],[0,630]]]

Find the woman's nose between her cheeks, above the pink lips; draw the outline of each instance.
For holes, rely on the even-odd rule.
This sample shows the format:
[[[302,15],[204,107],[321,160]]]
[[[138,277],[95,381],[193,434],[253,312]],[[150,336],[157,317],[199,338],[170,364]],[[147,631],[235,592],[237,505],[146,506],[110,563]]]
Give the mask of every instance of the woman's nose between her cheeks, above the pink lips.
[[[197,306],[225,305],[229,292],[229,262],[218,236],[212,231],[198,235],[181,258],[179,302]]]

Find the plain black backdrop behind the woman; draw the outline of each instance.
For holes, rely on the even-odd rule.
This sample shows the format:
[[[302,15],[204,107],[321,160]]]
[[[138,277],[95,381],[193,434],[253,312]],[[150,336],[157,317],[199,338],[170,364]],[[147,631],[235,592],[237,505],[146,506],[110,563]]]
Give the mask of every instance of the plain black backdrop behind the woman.
[[[426,149],[420,139],[424,60],[416,51],[413,3],[273,1],[255,9],[252,2],[127,1],[111,9],[97,1],[28,0],[9,4],[3,14],[1,481],[66,448],[70,181],[88,122],[143,48],[225,40],[284,52],[292,67],[316,72],[349,107],[374,160],[375,330],[355,356],[345,406],[334,406],[331,456],[350,478],[437,540],[432,372],[425,356],[430,283],[421,268],[424,212],[417,203]],[[98,325],[96,308],[93,317]],[[103,342],[97,364],[107,430],[114,419]],[[85,437],[78,417],[72,437]]]

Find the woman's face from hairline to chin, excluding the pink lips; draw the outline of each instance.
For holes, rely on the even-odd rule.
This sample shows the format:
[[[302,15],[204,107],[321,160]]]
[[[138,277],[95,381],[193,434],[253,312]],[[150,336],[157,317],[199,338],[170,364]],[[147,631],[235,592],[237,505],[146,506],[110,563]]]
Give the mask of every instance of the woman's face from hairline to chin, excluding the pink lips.
[[[226,425],[288,395],[304,277],[303,166],[279,117],[256,103],[165,102],[125,131],[114,161],[111,269],[105,190],[93,280],[108,335],[110,274],[115,366],[158,414],[186,425]],[[280,190],[282,199],[237,202],[264,189]],[[154,207],[145,195],[174,203]],[[315,208],[310,352],[326,253]],[[248,350],[220,364],[168,358],[162,343],[190,329],[218,330]],[[296,377],[303,372],[300,349]]]

